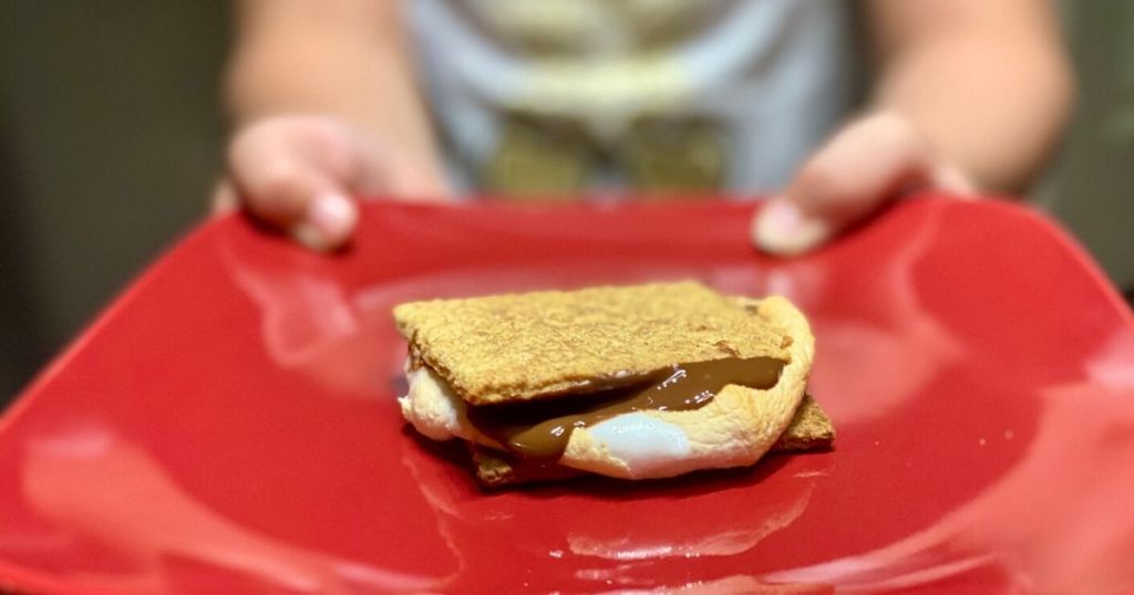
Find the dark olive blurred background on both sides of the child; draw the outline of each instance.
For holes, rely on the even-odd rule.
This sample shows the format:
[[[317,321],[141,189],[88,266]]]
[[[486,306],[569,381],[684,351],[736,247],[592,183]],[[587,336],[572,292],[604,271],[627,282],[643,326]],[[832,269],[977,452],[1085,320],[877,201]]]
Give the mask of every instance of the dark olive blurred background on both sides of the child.
[[[1134,288],[1134,2],[1063,2],[1080,104],[1031,199]],[[206,213],[228,2],[0,2],[0,407]]]

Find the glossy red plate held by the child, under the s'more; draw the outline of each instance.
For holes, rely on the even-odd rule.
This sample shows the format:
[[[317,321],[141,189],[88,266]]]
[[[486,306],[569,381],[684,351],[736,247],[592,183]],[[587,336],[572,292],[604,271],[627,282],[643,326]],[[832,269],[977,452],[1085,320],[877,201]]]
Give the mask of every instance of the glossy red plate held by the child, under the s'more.
[[[375,203],[338,257],[206,224],[0,419],[0,590],[1134,589],[1134,323],[1082,250],[926,198],[780,262],[751,210]],[[810,314],[833,451],[489,495],[404,430],[393,304],[682,278]]]

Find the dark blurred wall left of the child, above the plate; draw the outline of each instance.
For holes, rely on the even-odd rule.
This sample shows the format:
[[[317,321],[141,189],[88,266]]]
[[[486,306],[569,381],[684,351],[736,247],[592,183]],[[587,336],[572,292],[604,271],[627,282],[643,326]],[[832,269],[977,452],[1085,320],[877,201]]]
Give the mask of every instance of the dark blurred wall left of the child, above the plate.
[[[228,12],[0,2],[0,402],[205,213]]]

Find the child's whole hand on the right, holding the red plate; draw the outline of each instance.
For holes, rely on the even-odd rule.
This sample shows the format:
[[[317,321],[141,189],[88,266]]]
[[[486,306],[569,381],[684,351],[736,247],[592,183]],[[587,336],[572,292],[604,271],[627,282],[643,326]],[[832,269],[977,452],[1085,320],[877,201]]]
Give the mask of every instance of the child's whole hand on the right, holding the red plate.
[[[784,194],[756,214],[752,239],[765,252],[801,254],[920,188],[975,194],[965,175],[934,155],[905,119],[889,113],[868,116],[838,131],[807,160]]]

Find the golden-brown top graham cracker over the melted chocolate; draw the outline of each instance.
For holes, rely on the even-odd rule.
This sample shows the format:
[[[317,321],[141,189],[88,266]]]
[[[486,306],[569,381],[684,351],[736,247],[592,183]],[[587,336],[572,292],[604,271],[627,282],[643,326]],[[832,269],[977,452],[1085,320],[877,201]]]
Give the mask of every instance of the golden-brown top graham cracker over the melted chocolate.
[[[782,328],[694,282],[415,301],[393,317],[412,358],[473,405],[586,392],[675,363],[789,359]]]

